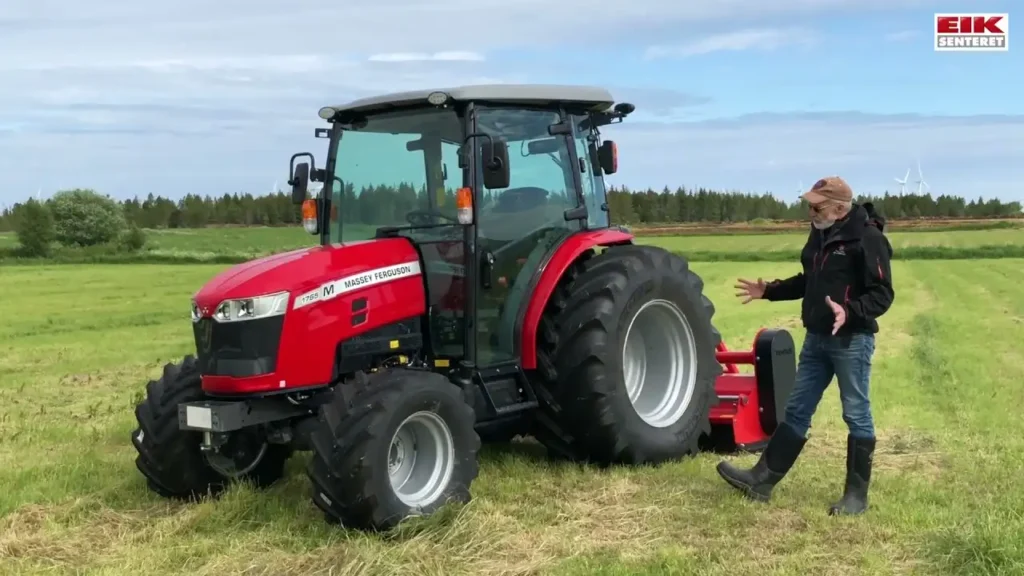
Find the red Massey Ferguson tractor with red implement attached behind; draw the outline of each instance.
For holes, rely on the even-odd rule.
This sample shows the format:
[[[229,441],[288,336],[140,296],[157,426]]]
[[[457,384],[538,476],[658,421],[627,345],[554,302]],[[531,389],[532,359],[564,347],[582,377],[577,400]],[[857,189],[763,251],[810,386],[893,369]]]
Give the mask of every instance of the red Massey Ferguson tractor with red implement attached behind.
[[[538,85],[322,109],[323,167],[303,153],[289,171],[318,245],[195,294],[196,355],[135,410],[148,487],[267,487],[309,451],[327,520],[387,530],[468,501],[481,441],[528,436],[601,465],[762,448],[793,339],[762,330],[725,349],[686,259],[609,223],[617,155],[599,129],[633,110]]]

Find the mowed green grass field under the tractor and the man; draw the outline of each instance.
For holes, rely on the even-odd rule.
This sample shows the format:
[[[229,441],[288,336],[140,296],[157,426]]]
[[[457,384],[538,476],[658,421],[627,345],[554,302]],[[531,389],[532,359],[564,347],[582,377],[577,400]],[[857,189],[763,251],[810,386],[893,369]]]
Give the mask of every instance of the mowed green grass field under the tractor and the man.
[[[872,509],[833,519],[845,425],[831,387],[767,505],[719,457],[657,468],[482,456],[474,500],[388,536],[326,525],[306,455],[285,482],[216,502],[150,493],[129,441],[144,382],[193,349],[188,295],[222,266],[6,266],[0,273],[0,573],[302,575],[1024,573],[1024,260],[899,261],[872,402]],[[745,346],[798,302],[733,296],[795,264],[699,263],[717,326]],[[742,463],[754,456],[737,456]]]

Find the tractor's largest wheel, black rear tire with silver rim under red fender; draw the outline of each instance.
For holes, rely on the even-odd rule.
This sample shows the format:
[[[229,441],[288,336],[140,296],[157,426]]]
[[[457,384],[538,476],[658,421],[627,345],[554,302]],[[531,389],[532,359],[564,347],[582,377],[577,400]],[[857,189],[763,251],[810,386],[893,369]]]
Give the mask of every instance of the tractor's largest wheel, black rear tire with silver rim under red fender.
[[[659,463],[695,454],[700,437],[711,431],[715,380],[722,373],[715,357],[721,336],[711,322],[715,306],[702,292],[703,281],[687,261],[662,248],[615,246],[578,260],[552,294],[539,328],[535,437],[557,455],[600,464]],[[646,343],[632,345],[631,356],[624,351],[627,335],[640,329],[630,327],[645,304],[660,310],[662,320],[648,325],[655,328],[646,329]],[[688,353],[677,356],[683,349]],[[651,353],[646,368],[624,364],[643,351]],[[672,359],[669,366],[665,361]],[[642,388],[628,385],[627,364],[631,373],[660,367],[663,375]],[[660,405],[669,408],[645,420],[638,405],[651,407],[657,399],[643,402],[649,395],[637,390],[669,381],[689,385],[666,395]]]

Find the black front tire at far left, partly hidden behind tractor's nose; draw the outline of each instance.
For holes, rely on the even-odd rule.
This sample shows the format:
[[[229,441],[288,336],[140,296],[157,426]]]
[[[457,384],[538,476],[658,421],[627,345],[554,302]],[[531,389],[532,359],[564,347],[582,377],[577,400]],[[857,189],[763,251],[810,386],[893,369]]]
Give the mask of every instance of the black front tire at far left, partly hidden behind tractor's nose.
[[[132,445],[138,452],[135,466],[151,490],[165,498],[195,500],[217,496],[232,482],[206,461],[200,444],[203,434],[178,427],[178,404],[206,398],[196,359],[186,356],[180,364],[167,364],[158,380],[146,384],[146,397],[135,407],[138,423]],[[262,459],[238,480],[266,488],[285,474],[292,450],[270,444]]]

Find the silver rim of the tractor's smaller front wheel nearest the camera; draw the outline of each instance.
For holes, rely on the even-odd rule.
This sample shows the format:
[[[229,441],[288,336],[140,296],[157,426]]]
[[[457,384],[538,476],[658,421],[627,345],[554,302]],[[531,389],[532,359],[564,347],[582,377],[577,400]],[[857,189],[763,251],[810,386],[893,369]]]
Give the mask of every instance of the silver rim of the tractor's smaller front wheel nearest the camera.
[[[398,425],[388,450],[388,476],[403,504],[415,508],[433,503],[454,469],[455,441],[440,416],[417,412]]]

